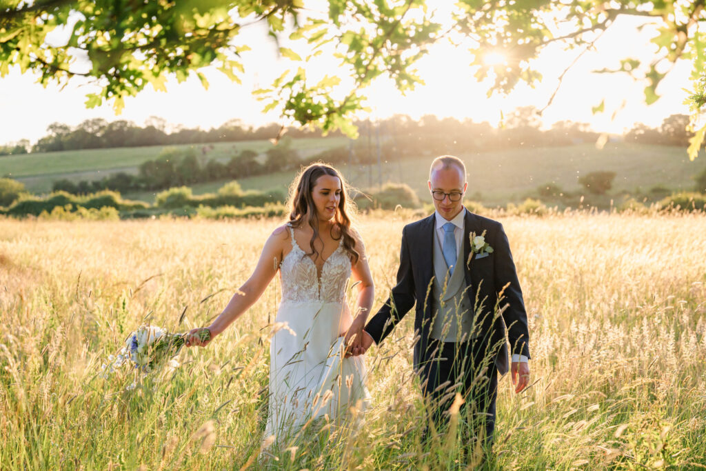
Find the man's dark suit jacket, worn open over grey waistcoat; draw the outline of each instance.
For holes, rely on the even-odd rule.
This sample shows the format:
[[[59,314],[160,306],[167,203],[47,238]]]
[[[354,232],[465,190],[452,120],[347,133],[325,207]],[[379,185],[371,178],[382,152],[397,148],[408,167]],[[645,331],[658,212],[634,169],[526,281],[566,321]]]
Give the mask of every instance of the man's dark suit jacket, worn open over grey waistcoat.
[[[427,352],[431,331],[431,296],[433,277],[433,230],[435,215],[412,222],[402,229],[400,268],[397,270],[397,285],[378,313],[371,318],[365,330],[376,344],[382,342],[398,322],[417,306],[414,317],[415,338],[414,368],[419,371],[421,364],[431,360],[433,352]],[[469,234],[481,235],[486,231],[485,240],[493,252],[483,258],[470,257]],[[463,256],[465,278],[469,286],[467,295],[475,306],[475,324],[479,338],[487,342],[489,355],[495,358],[498,371],[508,371],[508,348],[514,354],[530,357],[530,333],[527,329],[527,313],[522,300],[520,282],[510,244],[500,222],[481,217],[466,210],[463,235]]]

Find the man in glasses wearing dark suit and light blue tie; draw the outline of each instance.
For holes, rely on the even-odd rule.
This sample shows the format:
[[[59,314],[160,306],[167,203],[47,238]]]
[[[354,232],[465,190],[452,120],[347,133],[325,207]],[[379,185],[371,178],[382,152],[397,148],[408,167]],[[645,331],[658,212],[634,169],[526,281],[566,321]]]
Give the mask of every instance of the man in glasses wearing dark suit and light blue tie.
[[[429,171],[436,211],[402,229],[397,285],[365,326],[353,354],[379,345],[416,305],[414,369],[435,427],[448,422],[456,393],[462,420],[493,442],[498,375],[512,354],[515,393],[530,377],[529,332],[520,283],[503,226],[462,204],[466,168],[457,157],[437,157]],[[484,241],[471,237],[484,236]]]

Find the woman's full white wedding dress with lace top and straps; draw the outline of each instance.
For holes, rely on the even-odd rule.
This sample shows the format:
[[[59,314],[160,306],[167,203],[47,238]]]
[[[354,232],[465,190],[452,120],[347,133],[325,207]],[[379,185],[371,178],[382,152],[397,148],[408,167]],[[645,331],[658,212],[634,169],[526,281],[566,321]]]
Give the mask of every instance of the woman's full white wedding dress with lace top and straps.
[[[351,262],[341,243],[323,264],[292,237],[280,264],[282,302],[270,343],[270,403],[265,441],[292,438],[308,422],[328,416],[335,424],[358,422],[369,401],[362,356],[344,357],[352,316],[346,303]],[[352,409],[354,408],[354,409]],[[274,436],[274,438],[273,438]]]

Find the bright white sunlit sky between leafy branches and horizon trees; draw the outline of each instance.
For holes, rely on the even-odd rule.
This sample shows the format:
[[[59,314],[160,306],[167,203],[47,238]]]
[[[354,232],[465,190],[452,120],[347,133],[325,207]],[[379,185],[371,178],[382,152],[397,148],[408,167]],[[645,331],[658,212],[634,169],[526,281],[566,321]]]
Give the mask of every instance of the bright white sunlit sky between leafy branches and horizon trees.
[[[647,56],[654,45],[649,40],[653,28],[638,28],[643,18],[619,17],[596,42],[592,51],[583,54],[563,78],[552,105],[542,115],[542,124],[551,126],[556,121],[570,120],[590,124],[592,129],[607,133],[623,133],[636,123],[659,126],[670,114],[688,113],[683,105],[684,88],[690,88],[690,64],[680,61],[657,88],[661,99],[653,105],[644,103],[645,83],[635,82],[626,74],[598,74],[601,68],[618,68],[619,60]],[[128,97],[119,116],[111,105],[95,109],[85,107],[85,95],[97,92],[96,85],[84,78],[72,79],[64,88],[49,85],[43,88],[32,73],[20,74],[11,69],[0,78],[0,145],[26,138],[31,143],[45,136],[47,126],[54,122],[76,126],[85,119],[103,118],[107,121],[126,119],[138,125],[152,116],[162,117],[174,126],[210,129],[230,119],[244,124],[262,126],[272,122],[283,123],[276,112],[263,114],[262,102],[252,91],[266,87],[281,71],[293,65],[277,54],[277,44],[264,34],[261,25],[253,25],[241,32],[252,50],[242,54],[245,73],[242,84],[230,81],[222,73],[207,68],[204,71],[210,86],[205,90],[196,76],[184,83],[171,78],[167,93],[155,92],[151,85],[137,97]],[[56,38],[55,38],[56,39]],[[60,40],[60,39],[59,39]],[[256,44],[256,45],[255,45]],[[287,45],[285,40],[280,45]],[[435,44],[427,56],[418,62],[419,75],[425,85],[402,95],[394,84],[384,78],[365,90],[369,98],[371,117],[385,118],[393,114],[407,114],[417,119],[425,114],[488,121],[497,126],[501,116],[523,106],[543,108],[558,85],[558,77],[578,55],[581,49],[564,52],[560,47],[546,49],[537,59],[536,67],[544,78],[530,88],[520,85],[510,95],[486,96],[488,83],[478,83],[469,68],[469,56],[464,47],[448,42]],[[318,64],[323,76],[336,70],[333,59],[321,59]],[[80,61],[76,67],[80,68]],[[605,111],[592,114],[591,108],[605,100]]]

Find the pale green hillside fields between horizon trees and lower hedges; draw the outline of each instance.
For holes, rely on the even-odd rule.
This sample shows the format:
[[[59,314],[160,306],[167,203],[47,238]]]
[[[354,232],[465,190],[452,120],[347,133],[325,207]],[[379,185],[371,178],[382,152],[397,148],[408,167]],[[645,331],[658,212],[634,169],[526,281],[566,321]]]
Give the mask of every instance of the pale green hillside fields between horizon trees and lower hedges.
[[[345,138],[304,138],[292,141],[294,148],[307,159],[326,148],[345,145]],[[215,144],[207,157],[227,160],[236,150],[251,148],[264,151],[268,141]],[[197,147],[201,147],[198,145]],[[0,158],[0,175],[12,174],[23,181],[28,190],[46,192],[52,181],[68,178],[101,179],[110,172],[136,172],[140,162],[155,158],[162,148],[121,148],[81,150],[66,153],[19,155]],[[383,155],[378,165],[339,165],[349,182],[359,189],[370,189],[386,181],[406,182],[417,194],[428,198],[426,179],[429,162],[435,155],[419,155],[400,160],[396,155]],[[522,201],[537,187],[553,182],[565,191],[578,191],[578,177],[587,172],[616,172],[614,188],[616,203],[619,192],[648,193],[655,186],[669,191],[691,191],[693,176],[704,167],[701,157],[690,162],[681,147],[608,143],[598,150],[592,143],[555,148],[524,148],[485,153],[461,153],[469,174],[469,197],[486,205],[505,205]],[[292,172],[250,177],[239,180],[244,189],[287,189],[294,177]],[[193,186],[195,194],[216,191],[227,179]],[[155,191],[127,193],[131,199],[152,203]]]

